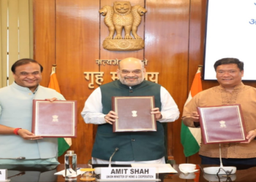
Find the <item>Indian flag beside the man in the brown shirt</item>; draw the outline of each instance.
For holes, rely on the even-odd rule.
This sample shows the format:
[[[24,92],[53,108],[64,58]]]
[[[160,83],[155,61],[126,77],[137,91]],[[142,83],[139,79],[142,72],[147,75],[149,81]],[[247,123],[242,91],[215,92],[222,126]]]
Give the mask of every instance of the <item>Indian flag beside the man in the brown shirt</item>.
[[[197,74],[195,74],[195,78],[192,83],[191,90],[189,92],[189,98],[187,98],[187,103],[198,93],[202,91],[202,82],[201,82],[201,68],[198,68]],[[181,122],[181,144],[184,147],[184,155],[185,157],[192,156],[196,154],[200,149],[201,143],[201,129],[200,128],[192,128],[187,127]]]

